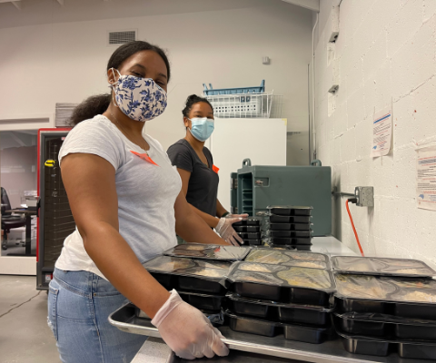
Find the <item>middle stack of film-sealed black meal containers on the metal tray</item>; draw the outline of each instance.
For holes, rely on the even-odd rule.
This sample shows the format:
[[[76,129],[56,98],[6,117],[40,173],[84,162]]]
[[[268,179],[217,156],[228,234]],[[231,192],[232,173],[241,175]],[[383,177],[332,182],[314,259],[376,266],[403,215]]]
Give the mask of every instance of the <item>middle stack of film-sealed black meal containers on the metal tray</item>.
[[[228,276],[226,324],[243,333],[322,343],[333,333],[328,269],[329,257],[321,253],[252,250]]]

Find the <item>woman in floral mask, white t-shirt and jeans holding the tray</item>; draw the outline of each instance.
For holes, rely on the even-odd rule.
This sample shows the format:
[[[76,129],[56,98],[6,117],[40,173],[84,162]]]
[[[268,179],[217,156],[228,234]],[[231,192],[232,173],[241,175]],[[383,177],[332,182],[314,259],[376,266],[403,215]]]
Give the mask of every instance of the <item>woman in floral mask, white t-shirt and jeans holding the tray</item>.
[[[125,299],[153,318],[180,357],[224,356],[220,332],[142,265],[176,245],[175,231],[191,242],[228,244],[189,207],[161,144],[143,132],[144,122],[166,107],[168,59],[152,44],[124,44],[109,59],[107,79],[111,93],[76,108],[75,127],[59,152],[77,226],[49,287],[48,322],[61,360],[134,358],[145,338],[107,321]]]

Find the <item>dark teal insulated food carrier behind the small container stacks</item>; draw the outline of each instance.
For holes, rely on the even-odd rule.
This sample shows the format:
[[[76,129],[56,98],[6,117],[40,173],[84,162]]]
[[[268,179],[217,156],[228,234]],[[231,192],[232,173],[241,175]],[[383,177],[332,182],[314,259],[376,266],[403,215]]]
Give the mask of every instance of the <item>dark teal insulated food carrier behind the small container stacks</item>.
[[[251,216],[268,212],[269,205],[310,206],[313,236],[332,234],[332,169],[320,161],[311,166],[264,166],[243,160],[231,174],[233,213]]]

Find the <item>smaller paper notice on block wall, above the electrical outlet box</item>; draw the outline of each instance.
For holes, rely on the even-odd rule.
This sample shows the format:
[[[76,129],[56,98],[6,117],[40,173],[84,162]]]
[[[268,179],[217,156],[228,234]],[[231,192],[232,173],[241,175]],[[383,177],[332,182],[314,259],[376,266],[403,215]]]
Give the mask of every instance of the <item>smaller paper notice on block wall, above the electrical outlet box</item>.
[[[391,150],[391,107],[374,114],[372,121],[372,157],[387,155]]]

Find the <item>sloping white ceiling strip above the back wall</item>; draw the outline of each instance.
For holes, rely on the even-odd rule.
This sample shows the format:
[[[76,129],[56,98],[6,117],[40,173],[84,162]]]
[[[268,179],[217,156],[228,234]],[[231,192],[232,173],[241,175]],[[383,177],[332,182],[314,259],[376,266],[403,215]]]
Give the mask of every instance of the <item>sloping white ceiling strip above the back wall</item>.
[[[320,0],[0,0],[0,28],[281,4],[319,11],[319,2]]]

